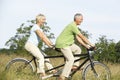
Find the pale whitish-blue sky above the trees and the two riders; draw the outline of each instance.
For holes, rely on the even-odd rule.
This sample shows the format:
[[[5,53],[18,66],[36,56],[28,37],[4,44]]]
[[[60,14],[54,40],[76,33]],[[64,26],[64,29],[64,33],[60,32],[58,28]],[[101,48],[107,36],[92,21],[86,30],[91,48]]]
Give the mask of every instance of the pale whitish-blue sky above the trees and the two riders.
[[[46,16],[55,39],[75,13],[82,13],[79,28],[92,34],[92,43],[101,35],[120,40],[120,0],[0,0],[0,48],[6,48],[16,29],[39,13]]]

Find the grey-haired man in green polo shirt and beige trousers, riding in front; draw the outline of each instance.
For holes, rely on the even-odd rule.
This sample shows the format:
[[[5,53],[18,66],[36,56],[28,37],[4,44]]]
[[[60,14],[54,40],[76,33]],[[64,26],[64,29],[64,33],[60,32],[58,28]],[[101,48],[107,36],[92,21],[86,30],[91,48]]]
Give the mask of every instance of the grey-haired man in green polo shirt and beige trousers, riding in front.
[[[75,58],[72,54],[81,53],[81,49],[74,43],[75,38],[87,49],[89,49],[90,47],[94,47],[94,45],[91,44],[88,39],[80,33],[78,29],[78,25],[80,25],[82,21],[82,14],[75,14],[74,21],[65,27],[65,29],[56,40],[56,48],[60,48],[66,58],[66,64],[64,66],[62,74],[59,77],[59,80],[65,80],[65,78],[69,76],[72,67],[73,69],[75,69],[77,68],[77,66],[79,66],[79,62],[74,63]]]

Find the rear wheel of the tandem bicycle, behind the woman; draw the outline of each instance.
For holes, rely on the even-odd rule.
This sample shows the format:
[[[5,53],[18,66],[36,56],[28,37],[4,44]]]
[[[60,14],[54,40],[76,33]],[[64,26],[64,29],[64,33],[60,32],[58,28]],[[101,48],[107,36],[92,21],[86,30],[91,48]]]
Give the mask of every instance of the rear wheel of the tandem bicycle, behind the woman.
[[[24,58],[15,58],[8,62],[6,69],[8,74],[14,76],[13,80],[30,80],[33,75],[33,65]]]

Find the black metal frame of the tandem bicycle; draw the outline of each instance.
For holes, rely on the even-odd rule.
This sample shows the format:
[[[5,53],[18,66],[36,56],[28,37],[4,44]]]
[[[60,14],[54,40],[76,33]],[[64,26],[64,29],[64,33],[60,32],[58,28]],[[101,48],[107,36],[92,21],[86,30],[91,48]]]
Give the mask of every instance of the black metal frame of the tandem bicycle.
[[[84,54],[75,54],[74,57],[80,57],[79,59],[76,59],[74,62],[77,62],[77,61],[80,61],[80,60],[83,60],[83,59],[85,59],[85,60],[78,66],[78,68],[77,68],[76,70],[74,70],[74,71],[71,72],[70,76],[74,75],[74,74],[75,74],[85,63],[87,63],[88,61],[90,61],[91,67],[92,67],[93,71],[96,73],[96,71],[95,71],[95,69],[94,69],[94,67],[93,67],[93,63],[92,63],[92,55],[90,54],[89,51],[87,51],[87,53],[84,53]],[[45,56],[44,58],[45,58],[45,59],[50,59],[50,58],[64,58],[64,56],[63,56],[63,55],[58,55],[58,56],[48,56],[48,55],[47,55],[47,56]],[[33,58],[29,61],[29,63],[32,62],[33,60],[34,60],[35,66],[37,66],[36,61],[35,61],[35,57],[33,57]],[[29,63],[28,63],[28,64],[29,64]],[[60,68],[60,67],[63,67],[64,65],[65,65],[65,63],[60,64],[60,65],[58,65],[58,66],[55,66],[55,67],[52,68],[52,69],[46,70],[45,72],[49,72],[49,71],[51,71],[51,70],[58,69],[58,68]],[[58,76],[58,75],[53,75],[53,77],[56,77],[56,76]]]

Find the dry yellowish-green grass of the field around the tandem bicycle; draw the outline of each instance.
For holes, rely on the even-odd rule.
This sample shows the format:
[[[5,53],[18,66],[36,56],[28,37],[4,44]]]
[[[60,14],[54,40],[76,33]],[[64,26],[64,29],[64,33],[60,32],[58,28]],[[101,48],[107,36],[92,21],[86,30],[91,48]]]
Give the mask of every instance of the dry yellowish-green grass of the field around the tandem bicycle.
[[[10,61],[13,58],[17,58],[17,57],[22,57],[22,58],[27,58],[27,59],[31,59],[31,56],[18,56],[15,54],[12,55],[8,55],[8,54],[1,54],[0,53],[0,80],[40,80],[39,77],[35,74],[29,74],[29,75],[25,75],[22,74],[19,77],[26,77],[24,79],[18,79],[16,78],[15,74],[12,72],[6,73],[5,70],[5,66],[8,63],[8,61]],[[57,64],[61,64],[63,62],[62,59],[53,59],[51,60],[52,64],[55,66]],[[107,66],[110,68],[111,73],[112,73],[112,80],[120,80],[120,64],[112,64],[112,63],[108,63]],[[74,80],[77,80],[77,77],[81,77],[81,72],[78,74],[76,74],[76,78]],[[49,80],[55,80],[54,78],[51,78]]]

